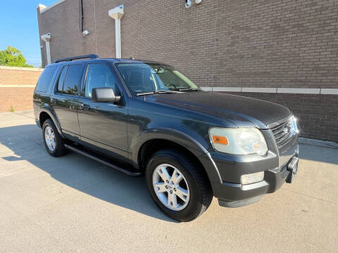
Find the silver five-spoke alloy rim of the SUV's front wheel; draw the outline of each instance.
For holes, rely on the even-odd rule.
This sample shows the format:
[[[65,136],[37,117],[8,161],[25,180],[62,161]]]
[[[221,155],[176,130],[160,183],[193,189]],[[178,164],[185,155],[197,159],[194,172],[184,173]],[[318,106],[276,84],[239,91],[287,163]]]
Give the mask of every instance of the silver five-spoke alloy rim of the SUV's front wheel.
[[[153,186],[165,207],[180,211],[189,203],[189,186],[182,172],[170,164],[160,164],[153,173]]]

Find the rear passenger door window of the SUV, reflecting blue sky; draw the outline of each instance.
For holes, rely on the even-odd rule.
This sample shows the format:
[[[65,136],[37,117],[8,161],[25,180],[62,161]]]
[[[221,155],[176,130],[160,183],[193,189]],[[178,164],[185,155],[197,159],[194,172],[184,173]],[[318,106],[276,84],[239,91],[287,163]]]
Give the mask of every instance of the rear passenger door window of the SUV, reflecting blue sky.
[[[81,79],[83,64],[69,65],[67,74],[65,75],[65,83],[63,84],[63,94],[77,95]]]

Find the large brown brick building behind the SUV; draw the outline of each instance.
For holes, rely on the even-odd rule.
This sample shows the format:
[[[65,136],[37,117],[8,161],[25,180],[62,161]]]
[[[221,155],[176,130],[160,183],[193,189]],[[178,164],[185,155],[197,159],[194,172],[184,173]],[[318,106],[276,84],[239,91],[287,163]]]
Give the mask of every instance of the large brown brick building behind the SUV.
[[[79,2],[37,7],[51,60],[115,57],[108,11],[123,4],[122,58],[158,60],[203,89],[287,105],[303,137],[338,141],[338,1],[192,0],[186,8],[184,0],[82,0],[83,22]]]

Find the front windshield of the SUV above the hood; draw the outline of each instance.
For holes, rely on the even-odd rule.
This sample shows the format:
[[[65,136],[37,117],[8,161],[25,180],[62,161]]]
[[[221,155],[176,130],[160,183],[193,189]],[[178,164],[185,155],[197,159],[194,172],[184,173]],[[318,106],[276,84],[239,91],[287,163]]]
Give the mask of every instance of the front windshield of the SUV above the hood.
[[[117,63],[125,83],[134,93],[193,91],[199,87],[174,67],[157,63]]]

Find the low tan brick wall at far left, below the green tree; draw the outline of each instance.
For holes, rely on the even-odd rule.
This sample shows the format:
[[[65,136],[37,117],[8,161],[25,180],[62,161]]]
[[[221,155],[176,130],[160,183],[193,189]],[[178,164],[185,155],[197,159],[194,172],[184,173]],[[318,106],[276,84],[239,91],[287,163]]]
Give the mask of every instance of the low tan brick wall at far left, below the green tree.
[[[42,69],[0,66],[0,112],[32,109],[32,94]]]

